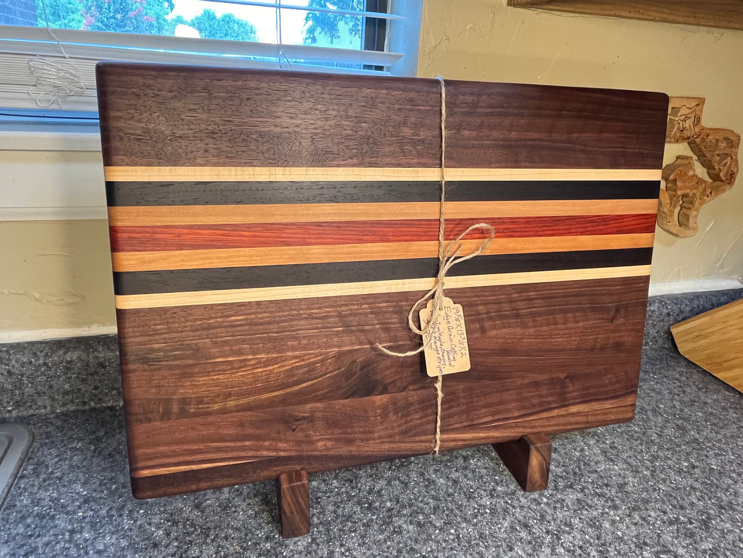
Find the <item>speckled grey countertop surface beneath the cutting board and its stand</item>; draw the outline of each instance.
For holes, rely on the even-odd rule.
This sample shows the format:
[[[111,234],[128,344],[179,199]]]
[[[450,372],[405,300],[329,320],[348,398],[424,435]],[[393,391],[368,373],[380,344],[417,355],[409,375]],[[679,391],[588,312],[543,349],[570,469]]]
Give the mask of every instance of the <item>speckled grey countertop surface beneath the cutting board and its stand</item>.
[[[311,475],[283,540],[273,482],[137,501],[118,407],[15,417],[36,443],[1,557],[741,557],[743,395],[646,348],[637,417],[553,437],[549,490],[490,446]]]

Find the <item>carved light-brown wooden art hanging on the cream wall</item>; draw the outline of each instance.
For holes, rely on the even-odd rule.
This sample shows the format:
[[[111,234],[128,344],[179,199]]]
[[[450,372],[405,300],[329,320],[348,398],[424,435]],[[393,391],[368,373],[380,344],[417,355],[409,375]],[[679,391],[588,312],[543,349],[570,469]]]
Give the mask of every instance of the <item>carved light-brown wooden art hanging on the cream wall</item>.
[[[689,144],[710,180],[698,176],[694,158],[678,155],[663,167],[665,189],[658,199],[658,226],[677,237],[693,237],[698,231],[701,206],[727,192],[738,176],[740,135],[731,129],[701,124],[704,98],[671,97],[666,143]]]

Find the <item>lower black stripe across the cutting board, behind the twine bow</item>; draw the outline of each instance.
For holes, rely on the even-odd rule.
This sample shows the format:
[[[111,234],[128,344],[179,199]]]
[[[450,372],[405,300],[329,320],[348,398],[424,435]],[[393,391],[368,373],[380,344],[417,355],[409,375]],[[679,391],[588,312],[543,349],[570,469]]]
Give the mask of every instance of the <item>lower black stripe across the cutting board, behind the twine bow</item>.
[[[537,254],[492,254],[474,257],[452,267],[449,275],[487,275],[643,266],[652,259],[652,248],[583,250]],[[219,289],[252,289],[267,286],[360,283],[363,281],[434,277],[436,258],[375,260],[364,262],[302,263],[285,266],[167,269],[151,272],[114,272],[117,295],[157,292],[192,292]]]

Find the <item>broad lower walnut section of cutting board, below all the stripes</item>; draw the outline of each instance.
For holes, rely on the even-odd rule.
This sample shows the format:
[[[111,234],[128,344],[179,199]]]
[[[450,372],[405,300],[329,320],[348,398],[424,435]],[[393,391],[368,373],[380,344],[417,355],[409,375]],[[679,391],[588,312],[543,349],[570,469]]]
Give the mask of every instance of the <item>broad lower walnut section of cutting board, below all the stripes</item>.
[[[642,277],[448,290],[473,367],[447,377],[444,449],[629,420],[646,289]],[[120,310],[132,475],[244,461],[257,480],[279,457],[306,455],[312,472],[311,456],[429,452],[421,359],[374,347],[415,346],[400,307],[419,294]]]

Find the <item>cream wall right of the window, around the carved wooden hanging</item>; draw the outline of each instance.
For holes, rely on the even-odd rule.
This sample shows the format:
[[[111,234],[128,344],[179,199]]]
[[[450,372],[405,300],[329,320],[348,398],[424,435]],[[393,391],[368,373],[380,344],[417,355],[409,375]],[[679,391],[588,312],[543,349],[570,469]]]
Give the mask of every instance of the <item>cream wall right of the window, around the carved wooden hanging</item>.
[[[703,124],[743,133],[741,31],[525,10],[506,0],[426,0],[418,76],[438,75],[707,97]],[[667,147],[670,162],[685,146]],[[741,280],[743,184],[705,205],[698,223],[688,239],[658,229],[653,283]]]

